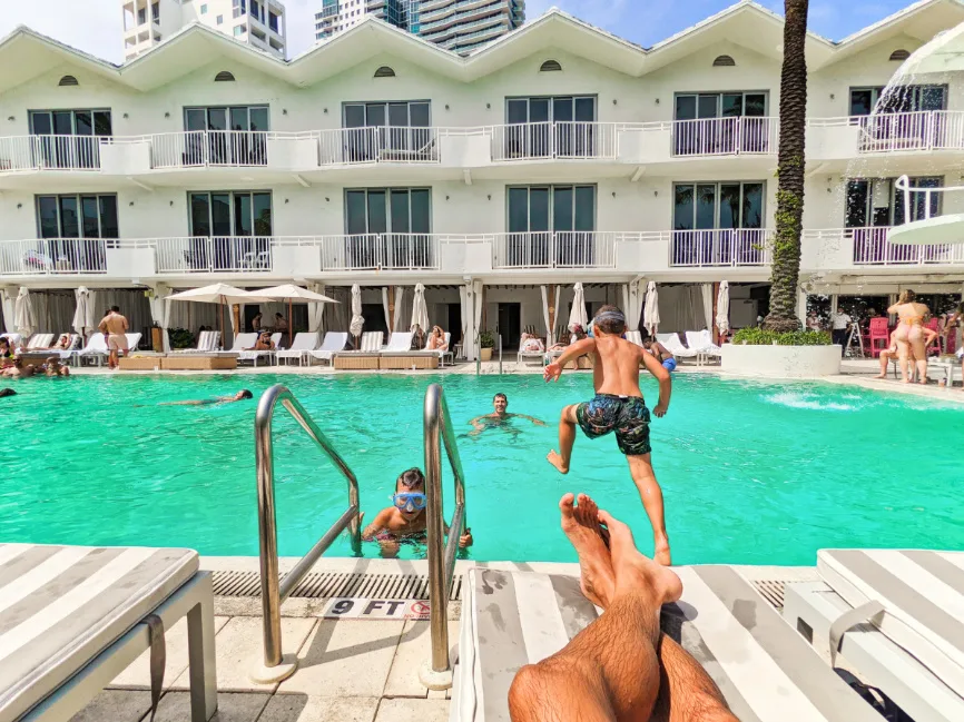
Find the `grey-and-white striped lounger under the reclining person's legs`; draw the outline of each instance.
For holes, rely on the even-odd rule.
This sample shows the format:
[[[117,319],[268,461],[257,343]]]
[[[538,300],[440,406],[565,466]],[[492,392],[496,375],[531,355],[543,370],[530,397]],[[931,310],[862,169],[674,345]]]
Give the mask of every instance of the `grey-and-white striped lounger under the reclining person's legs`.
[[[714,679],[741,722],[883,722],[732,567],[676,567],[682,600],[662,626]],[[524,664],[597,617],[574,576],[473,568],[463,586],[451,722],[508,722]]]

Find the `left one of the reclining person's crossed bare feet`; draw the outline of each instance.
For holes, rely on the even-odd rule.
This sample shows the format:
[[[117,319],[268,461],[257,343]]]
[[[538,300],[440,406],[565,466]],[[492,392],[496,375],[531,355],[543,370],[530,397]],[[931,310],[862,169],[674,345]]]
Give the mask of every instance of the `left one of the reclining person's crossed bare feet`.
[[[573,507],[573,501],[572,494],[559,501],[562,531],[579,554],[582,593],[590,602],[606,609],[616,591],[616,576],[599,525],[599,507],[586,494],[579,495],[579,506]]]

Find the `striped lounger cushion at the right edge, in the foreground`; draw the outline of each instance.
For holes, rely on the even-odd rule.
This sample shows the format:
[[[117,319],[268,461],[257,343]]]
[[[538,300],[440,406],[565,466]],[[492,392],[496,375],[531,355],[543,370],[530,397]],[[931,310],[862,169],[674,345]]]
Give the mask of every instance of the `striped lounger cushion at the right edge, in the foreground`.
[[[964,552],[820,550],[817,571],[850,606],[881,602],[881,631],[964,696]]]

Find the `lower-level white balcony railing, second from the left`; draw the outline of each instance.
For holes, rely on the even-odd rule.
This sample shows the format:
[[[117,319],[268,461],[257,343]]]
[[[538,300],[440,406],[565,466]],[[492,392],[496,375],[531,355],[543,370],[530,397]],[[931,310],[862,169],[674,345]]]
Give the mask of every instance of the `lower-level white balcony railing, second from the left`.
[[[262,273],[272,270],[269,236],[188,236],[140,239],[154,246],[158,274]]]

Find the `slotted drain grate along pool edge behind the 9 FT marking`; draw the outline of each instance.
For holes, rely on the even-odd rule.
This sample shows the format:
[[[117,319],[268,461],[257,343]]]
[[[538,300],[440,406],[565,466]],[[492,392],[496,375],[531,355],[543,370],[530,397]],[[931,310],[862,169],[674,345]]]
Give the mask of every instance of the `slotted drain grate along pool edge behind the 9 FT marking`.
[[[260,574],[257,572],[215,572],[214,593],[217,596],[260,596]],[[352,574],[347,572],[311,573],[295,586],[291,595],[312,600],[333,596],[427,600],[429,576],[425,574]],[[456,576],[452,581],[449,599],[451,601],[462,599],[461,576]]]

